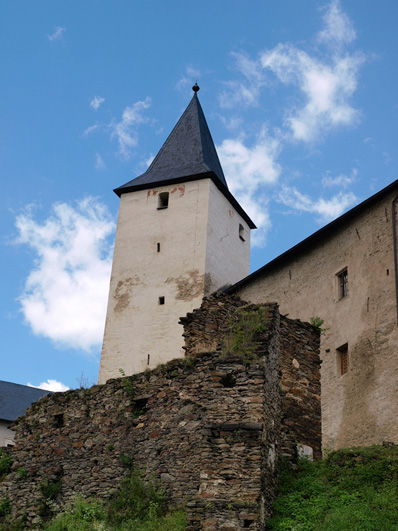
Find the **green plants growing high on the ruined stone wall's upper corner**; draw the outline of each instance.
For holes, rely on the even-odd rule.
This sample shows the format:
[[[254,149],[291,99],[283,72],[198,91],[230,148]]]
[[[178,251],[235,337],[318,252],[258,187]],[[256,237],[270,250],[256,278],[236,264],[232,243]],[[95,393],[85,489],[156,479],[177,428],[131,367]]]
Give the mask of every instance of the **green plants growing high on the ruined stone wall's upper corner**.
[[[224,337],[221,355],[239,356],[251,363],[256,358],[259,334],[265,332],[269,322],[267,307],[252,305],[240,308],[229,320],[230,332]]]

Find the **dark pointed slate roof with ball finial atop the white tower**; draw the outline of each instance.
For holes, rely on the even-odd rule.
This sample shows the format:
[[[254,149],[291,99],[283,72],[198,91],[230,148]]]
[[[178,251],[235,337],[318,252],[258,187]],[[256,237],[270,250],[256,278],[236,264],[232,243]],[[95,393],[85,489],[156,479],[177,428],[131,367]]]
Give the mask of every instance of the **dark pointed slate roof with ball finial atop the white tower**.
[[[217,151],[197,96],[199,87],[145,173],[115,188],[124,193],[210,178],[250,228],[256,226],[228,190]]]

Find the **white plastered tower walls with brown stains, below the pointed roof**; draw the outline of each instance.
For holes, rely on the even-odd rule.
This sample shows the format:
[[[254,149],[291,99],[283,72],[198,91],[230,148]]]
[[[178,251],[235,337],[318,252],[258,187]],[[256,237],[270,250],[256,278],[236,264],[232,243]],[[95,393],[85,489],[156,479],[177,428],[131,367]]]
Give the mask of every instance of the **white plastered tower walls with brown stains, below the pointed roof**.
[[[168,207],[158,209],[164,192]],[[123,194],[99,383],[183,357],[179,318],[249,273],[249,237],[211,179]]]

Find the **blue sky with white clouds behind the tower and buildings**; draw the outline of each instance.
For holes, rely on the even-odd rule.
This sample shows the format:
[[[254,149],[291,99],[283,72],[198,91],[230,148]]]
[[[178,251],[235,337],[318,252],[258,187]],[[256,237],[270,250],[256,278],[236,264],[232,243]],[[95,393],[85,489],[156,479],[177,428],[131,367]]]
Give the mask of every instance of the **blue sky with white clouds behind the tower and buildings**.
[[[0,379],[97,379],[119,199],[192,96],[255,270],[397,178],[395,0],[6,2]]]

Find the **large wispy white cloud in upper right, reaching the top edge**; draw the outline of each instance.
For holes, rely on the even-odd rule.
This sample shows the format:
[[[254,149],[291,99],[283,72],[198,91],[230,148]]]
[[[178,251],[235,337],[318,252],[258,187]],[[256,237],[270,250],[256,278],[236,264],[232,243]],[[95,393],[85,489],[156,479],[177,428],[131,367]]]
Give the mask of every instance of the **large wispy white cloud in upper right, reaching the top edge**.
[[[280,43],[251,59],[243,53],[233,54],[241,78],[225,83],[220,106],[239,109],[258,106],[261,92],[269,84],[269,73],[286,85],[297,87],[295,103],[285,110],[284,127],[290,140],[314,142],[328,131],[355,125],[360,112],[351,103],[357,88],[359,69],[364,55],[348,53],[347,44],[356,38],[355,29],[338,0],[332,0],[323,16],[318,43],[328,44],[326,53],[311,52],[290,43]]]

